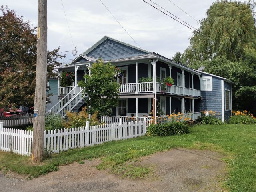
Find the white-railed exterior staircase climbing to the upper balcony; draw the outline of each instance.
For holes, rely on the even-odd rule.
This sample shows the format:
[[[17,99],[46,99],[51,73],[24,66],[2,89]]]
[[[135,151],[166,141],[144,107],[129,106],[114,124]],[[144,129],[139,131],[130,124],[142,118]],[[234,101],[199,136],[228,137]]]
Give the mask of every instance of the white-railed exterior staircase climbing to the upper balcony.
[[[82,88],[76,85],[66,96],[64,96],[58,103],[56,103],[50,110],[46,112],[47,114],[60,114],[60,116],[65,117],[66,112],[76,111],[84,104],[84,99],[82,98]]]

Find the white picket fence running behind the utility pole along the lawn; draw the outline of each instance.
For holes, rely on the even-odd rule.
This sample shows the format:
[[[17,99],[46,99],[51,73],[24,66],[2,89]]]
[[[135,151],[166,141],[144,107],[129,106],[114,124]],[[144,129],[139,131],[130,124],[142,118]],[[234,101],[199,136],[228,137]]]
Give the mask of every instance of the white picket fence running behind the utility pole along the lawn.
[[[44,131],[44,147],[50,153],[64,150],[102,144],[113,140],[123,140],[146,134],[146,118],[143,121],[104,124],[100,126],[67,128]],[[0,150],[30,155],[33,132],[3,128],[0,123]]]

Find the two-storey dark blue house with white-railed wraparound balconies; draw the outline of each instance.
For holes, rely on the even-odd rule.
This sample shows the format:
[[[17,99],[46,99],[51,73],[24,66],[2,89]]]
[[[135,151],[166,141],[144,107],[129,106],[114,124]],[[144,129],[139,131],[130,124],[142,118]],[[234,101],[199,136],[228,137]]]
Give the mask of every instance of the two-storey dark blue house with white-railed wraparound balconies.
[[[66,111],[78,109],[83,104],[77,82],[83,79],[85,73],[89,73],[88,67],[98,58],[102,58],[104,62],[110,60],[124,71],[124,76],[118,79],[120,98],[118,106],[113,109],[113,115],[149,115],[153,108],[153,99],[157,101],[155,108],[158,108],[158,112],[162,111],[163,115],[211,109],[218,112],[223,121],[231,115],[231,81],[194,70],[154,52],[107,36],[69,65],[58,67],[59,72],[75,73],[75,86],[60,87],[58,81],[58,95],[61,100],[51,112],[65,116]],[[157,82],[156,77],[163,80],[166,76],[174,79],[172,86]],[[141,77],[152,77],[153,81],[138,83]]]

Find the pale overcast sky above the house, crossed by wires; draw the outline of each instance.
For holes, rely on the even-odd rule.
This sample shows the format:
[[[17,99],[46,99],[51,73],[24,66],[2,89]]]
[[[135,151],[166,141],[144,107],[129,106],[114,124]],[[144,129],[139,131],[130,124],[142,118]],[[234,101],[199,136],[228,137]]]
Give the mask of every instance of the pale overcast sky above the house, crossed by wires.
[[[114,20],[100,0],[62,0],[78,54],[86,51],[103,36],[137,46]],[[147,0],[150,2],[149,0]],[[214,0],[171,0],[196,20],[206,16]],[[1,0],[25,20],[37,25],[37,0]],[[102,0],[141,48],[172,58],[189,45],[192,30],[152,8],[142,0]],[[168,0],[154,0],[172,14],[198,28],[198,23]],[[48,50],[60,46],[60,52],[74,50],[61,0],[48,0]],[[63,62],[74,56],[68,52]]]

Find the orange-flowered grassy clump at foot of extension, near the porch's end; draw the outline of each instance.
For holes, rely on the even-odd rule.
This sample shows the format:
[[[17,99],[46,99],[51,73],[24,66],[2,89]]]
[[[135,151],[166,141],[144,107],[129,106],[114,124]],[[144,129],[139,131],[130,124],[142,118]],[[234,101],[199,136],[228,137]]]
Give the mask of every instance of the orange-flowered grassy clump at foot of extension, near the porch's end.
[[[198,124],[202,125],[221,125],[223,122],[217,117],[220,114],[212,110],[202,111],[202,116],[198,118]]]

